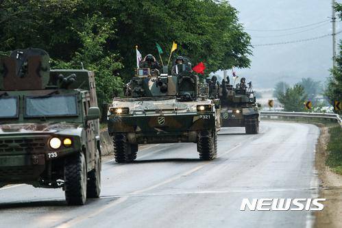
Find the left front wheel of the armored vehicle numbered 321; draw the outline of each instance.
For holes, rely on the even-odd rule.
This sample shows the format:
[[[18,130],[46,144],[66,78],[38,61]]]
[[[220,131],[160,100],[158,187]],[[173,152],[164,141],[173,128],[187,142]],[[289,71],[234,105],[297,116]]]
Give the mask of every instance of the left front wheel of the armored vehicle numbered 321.
[[[114,156],[117,163],[129,163],[136,159],[138,144],[130,144],[123,134],[114,137]]]

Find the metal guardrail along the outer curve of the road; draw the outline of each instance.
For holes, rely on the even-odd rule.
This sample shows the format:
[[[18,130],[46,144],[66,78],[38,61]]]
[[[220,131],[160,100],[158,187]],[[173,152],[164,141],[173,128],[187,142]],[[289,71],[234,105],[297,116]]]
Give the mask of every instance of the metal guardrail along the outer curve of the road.
[[[334,119],[341,125],[342,127],[342,119],[338,114],[330,114],[330,113],[313,113],[313,112],[261,112],[261,117],[271,118],[271,116],[275,117],[287,117],[287,118],[324,118],[324,119]]]

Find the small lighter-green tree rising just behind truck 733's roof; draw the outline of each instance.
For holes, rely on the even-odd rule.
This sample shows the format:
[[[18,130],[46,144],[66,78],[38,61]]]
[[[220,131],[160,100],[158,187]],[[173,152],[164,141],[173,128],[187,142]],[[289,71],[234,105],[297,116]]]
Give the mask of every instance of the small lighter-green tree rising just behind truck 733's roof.
[[[76,32],[82,47],[73,53],[71,61],[54,62],[55,68],[80,68],[82,63],[86,69],[94,71],[99,105],[110,102],[123,88],[121,78],[115,77],[116,71],[122,67],[117,62],[118,56],[105,49],[106,40],[114,34],[113,24],[114,18],[106,21],[101,14],[87,17],[82,30]]]

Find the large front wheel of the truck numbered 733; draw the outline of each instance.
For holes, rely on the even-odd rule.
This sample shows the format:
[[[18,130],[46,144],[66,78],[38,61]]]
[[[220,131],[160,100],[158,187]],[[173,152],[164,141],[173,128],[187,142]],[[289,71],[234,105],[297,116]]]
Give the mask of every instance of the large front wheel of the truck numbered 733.
[[[64,164],[64,190],[66,203],[84,205],[87,187],[86,159],[83,153],[68,157]]]

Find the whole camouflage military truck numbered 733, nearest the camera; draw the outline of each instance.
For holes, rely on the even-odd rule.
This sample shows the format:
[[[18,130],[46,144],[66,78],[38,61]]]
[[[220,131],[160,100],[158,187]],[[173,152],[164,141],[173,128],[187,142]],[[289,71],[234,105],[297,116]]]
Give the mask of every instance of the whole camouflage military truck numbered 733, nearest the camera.
[[[95,76],[50,70],[42,49],[0,58],[0,186],[63,188],[69,205],[99,197]]]

